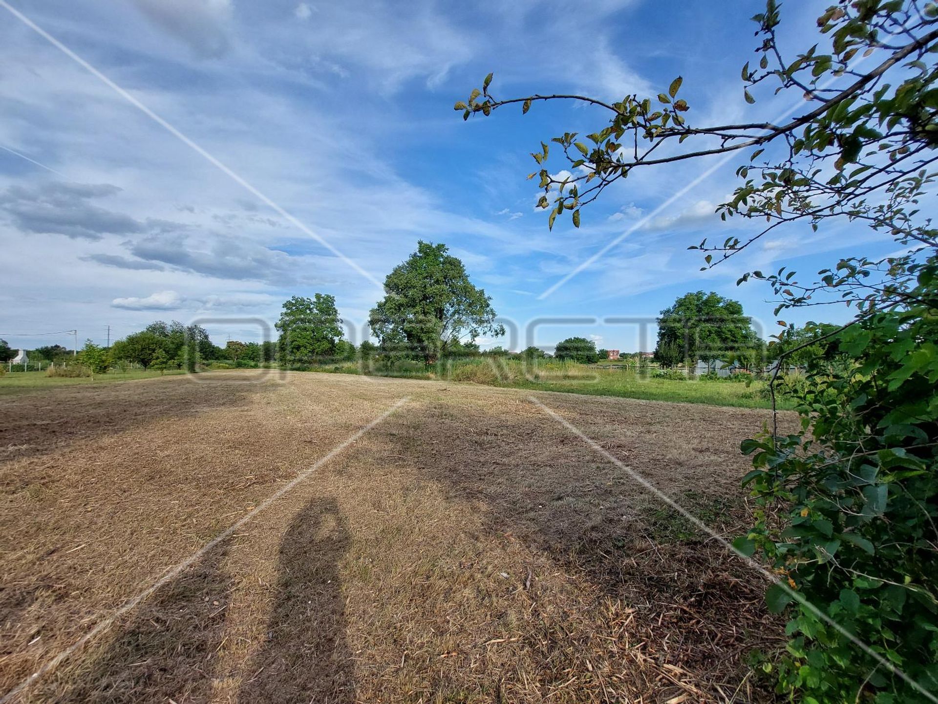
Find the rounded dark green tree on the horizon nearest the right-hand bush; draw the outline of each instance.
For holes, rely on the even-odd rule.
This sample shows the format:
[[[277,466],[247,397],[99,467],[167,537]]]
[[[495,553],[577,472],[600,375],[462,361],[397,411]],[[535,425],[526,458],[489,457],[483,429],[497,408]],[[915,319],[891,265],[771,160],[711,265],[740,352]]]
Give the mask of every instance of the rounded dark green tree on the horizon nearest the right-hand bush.
[[[664,365],[736,356],[748,360],[761,348],[742,304],[712,291],[685,294],[658,317],[655,358]]]

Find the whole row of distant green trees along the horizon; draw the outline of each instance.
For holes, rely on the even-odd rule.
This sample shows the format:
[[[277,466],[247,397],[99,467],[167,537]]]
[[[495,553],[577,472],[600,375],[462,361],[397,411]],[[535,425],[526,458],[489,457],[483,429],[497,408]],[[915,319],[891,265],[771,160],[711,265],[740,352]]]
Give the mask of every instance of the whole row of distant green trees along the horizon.
[[[477,355],[525,359],[549,356],[533,346],[520,353],[500,346],[486,352],[479,349],[480,336],[499,337],[505,334],[505,329],[496,322],[492,298],[469,281],[462,262],[447,253],[446,245],[418,242],[416,252],[387,275],[385,289],[385,298],[375,304],[369,315],[371,333],[377,343],[365,341],[357,348],[342,335],[336,298],[316,293],[311,298],[294,296],[283,303],[276,324],[279,331],[276,342],[232,340],[219,347],[201,326],[158,320],[116,341],[107,350],[89,340],[83,347],[82,358],[85,364],[104,369],[108,365],[133,363],[144,368],[186,367],[193,371],[196,364],[207,361],[250,367],[274,361],[300,366],[327,360],[373,360],[381,356],[428,364]],[[824,330],[824,326],[793,327],[785,331],[780,344],[766,348],[738,301],[697,291],[677,298],[672,306],[661,311],[655,360],[671,367],[729,358],[749,368],[777,357],[783,348],[797,347],[790,361],[799,364],[824,354],[822,345],[806,344],[812,337],[820,337]],[[13,353],[0,341],[0,360],[6,354],[10,359]],[[63,360],[68,355],[68,349],[58,344],[38,347],[32,354],[50,361]],[[553,357],[593,363],[607,359],[607,353],[598,350],[592,340],[571,337],[556,345]]]

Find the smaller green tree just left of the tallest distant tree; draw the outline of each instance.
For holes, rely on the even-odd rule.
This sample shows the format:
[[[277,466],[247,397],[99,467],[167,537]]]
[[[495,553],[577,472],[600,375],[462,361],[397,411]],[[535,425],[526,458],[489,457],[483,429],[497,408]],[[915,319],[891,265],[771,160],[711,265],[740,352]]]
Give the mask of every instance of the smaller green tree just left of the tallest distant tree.
[[[318,293],[313,298],[294,296],[284,301],[277,321],[280,361],[304,364],[333,357],[342,337],[341,324],[334,296]]]

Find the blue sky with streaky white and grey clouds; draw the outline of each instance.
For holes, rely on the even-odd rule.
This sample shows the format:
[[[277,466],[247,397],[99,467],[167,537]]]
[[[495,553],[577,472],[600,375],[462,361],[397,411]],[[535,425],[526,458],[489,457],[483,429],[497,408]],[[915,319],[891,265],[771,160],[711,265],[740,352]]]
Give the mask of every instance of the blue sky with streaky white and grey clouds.
[[[335,295],[355,338],[381,295],[375,281],[425,239],[445,242],[514,321],[508,345],[579,334],[634,350],[653,346],[654,329],[643,343],[638,326],[602,321],[653,318],[705,289],[741,300],[768,334],[771,292],[737,287],[743,271],[815,271],[847,253],[891,251],[865,231],[795,227],[699,271],[689,244],[754,226],[714,215],[733,191],[734,159],[555,287],[716,160],[631,176],[583,211],[579,230],[558,220],[549,232],[525,180],[529,152],[564,131],[595,131],[604,115],[555,102],[463,123],[452,110],[489,71],[504,97],[655,95],[682,75],[693,123],[778,118],[792,97],[765,90],[749,106],[739,76],[761,3],[10,5],[230,169],[0,7],[0,336],[12,346],[70,344],[10,335],[65,329],[103,343],[108,325],[114,339],[159,318],[213,320],[205,327],[219,344],[257,339],[250,320],[272,326],[285,298],[313,292]],[[813,43],[824,3],[789,5],[783,39]],[[554,322],[531,326],[545,319]]]

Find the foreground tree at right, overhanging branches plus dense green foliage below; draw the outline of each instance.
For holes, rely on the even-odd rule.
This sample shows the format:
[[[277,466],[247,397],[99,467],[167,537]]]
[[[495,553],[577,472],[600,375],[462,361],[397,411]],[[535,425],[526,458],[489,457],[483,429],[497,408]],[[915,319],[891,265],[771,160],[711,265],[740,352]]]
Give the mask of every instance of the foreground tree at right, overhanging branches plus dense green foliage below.
[[[844,245],[865,238],[865,227],[887,240],[887,254],[846,256],[816,277],[784,267],[740,277],[768,282],[777,311],[836,301],[854,305],[856,314],[807,341],[836,344],[837,354],[809,360],[802,430],[781,435],[773,425],[744,444],[754,465],[747,483],[760,508],[735,544],[744,554],[760,551],[780,575],[767,598],[790,617],[790,642],[772,668],[784,693],[819,703],[933,702],[938,230],[930,211],[938,183],[938,6],[837,0],[816,24],[786,31],[786,42],[778,38],[779,8],[767,0],[753,18],[757,55],[741,71],[747,103],[780,94],[799,106],[777,122],[691,124],[679,76],[657,96],[607,101],[498,99],[489,74],[455,107],[468,118],[568,99],[602,113],[591,134],[552,140],[572,167],[563,176],[548,168],[549,145],[533,154],[531,177],[544,189],[540,205],[550,225],[567,213],[579,226],[581,208],[610,185],[659,164],[738,152],[742,182],[718,212],[758,226],[746,237],[695,245],[705,252],[704,268],[770,233],[807,227]],[[809,37],[812,30],[820,36]],[[780,356],[798,351],[789,344]]]

